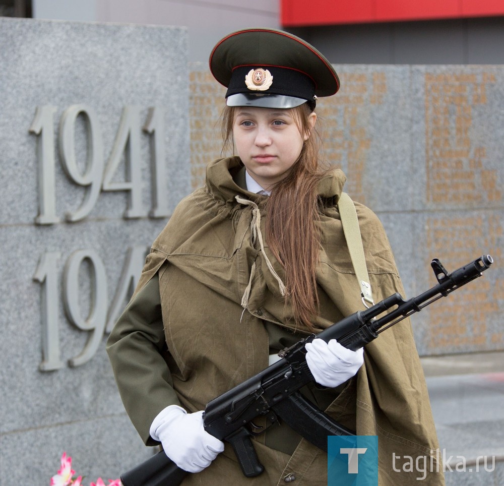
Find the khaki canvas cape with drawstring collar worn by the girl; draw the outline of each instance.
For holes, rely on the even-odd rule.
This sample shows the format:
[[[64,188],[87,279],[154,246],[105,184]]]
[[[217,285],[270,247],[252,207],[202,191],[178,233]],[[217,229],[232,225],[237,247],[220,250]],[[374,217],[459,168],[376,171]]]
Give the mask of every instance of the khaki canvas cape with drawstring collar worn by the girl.
[[[153,371],[160,366],[159,359],[146,358],[137,371],[123,372],[140,376],[118,377],[125,406],[146,443],[152,443],[148,424],[169,403],[147,406],[149,398],[138,399],[142,394],[152,401],[165,393],[168,399],[169,390],[174,389],[185,409],[203,410],[210,400],[268,366],[265,323],[287,333],[308,334],[306,329],[295,328],[282,294],[283,269],[264,240],[267,198],[236,184],[241,167],[237,157],[210,163],[205,187],[179,203],[147,257],[136,292],[158,275],[162,324],[152,319],[151,325],[164,326],[169,373]],[[337,207],[344,183],[345,175],[335,169],[319,186],[323,203],[317,271],[321,305],[314,322],[319,331],[363,309]],[[374,301],[395,292],[404,295],[381,222],[362,204],[355,206]],[[122,368],[119,363],[125,362],[123,356],[118,357],[121,341],[129,334],[121,320],[109,341],[112,363],[117,361],[116,377]],[[135,339],[141,342],[138,336]],[[149,352],[151,342],[146,344],[145,353]],[[137,388],[135,398],[125,398],[131,392],[128,387]],[[160,390],[163,387],[166,392]],[[378,437],[379,484],[419,484],[417,478],[424,473],[417,472],[415,464],[428,469],[422,484],[444,484],[443,473],[436,472],[442,465],[436,462],[436,432],[409,320],[365,347],[364,365],[326,412],[357,435]],[[299,486],[327,485],[327,454],[306,440],[292,455],[267,447],[261,435],[254,446],[265,466],[257,478],[242,475],[226,444],[208,468],[188,475],[183,484],[263,486],[285,484],[285,478],[293,474]]]

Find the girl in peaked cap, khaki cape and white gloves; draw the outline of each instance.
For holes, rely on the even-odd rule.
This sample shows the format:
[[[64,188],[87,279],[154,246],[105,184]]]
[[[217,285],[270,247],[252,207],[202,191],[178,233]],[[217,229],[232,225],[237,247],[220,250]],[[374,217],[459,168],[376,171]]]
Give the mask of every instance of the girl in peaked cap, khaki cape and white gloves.
[[[205,186],[154,241],[107,350],[145,444],[193,473],[183,484],[325,486],[327,454],[266,420],[253,441],[265,471],[244,477],[229,444],[204,431],[202,410],[279,350],[363,309],[338,211],[345,175],[319,160],[316,103],[339,79],[317,49],[271,29],[223,38],[210,70],[228,88],[224,141],[234,155],[209,163]],[[374,300],[403,292],[382,224],[355,208]],[[428,462],[438,446],[409,322],[365,350],[321,339],[306,350],[316,380],[306,397],[358,435],[378,436],[380,484],[418,484],[398,457]],[[435,470],[423,484],[444,484]]]

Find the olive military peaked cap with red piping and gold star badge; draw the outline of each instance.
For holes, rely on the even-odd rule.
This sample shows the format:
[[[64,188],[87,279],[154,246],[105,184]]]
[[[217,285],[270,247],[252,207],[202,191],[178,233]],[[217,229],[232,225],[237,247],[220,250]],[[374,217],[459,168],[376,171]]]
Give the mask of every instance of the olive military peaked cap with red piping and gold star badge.
[[[221,39],[210,71],[227,88],[228,106],[292,108],[335,94],[340,81],[331,63],[304,40],[275,29],[245,29]]]

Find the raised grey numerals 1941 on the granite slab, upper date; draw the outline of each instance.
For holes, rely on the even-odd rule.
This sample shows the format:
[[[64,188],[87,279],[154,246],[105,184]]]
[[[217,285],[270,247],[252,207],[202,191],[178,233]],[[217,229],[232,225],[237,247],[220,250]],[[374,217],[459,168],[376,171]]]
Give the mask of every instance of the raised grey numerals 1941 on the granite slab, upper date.
[[[55,196],[55,153],[54,153],[54,113],[55,106],[38,106],[30,126],[30,132],[38,137],[37,159],[39,170],[39,212],[35,218],[37,224],[54,224],[60,221],[56,215]],[[77,117],[84,120],[87,137],[87,160],[85,169],[77,164],[75,131]],[[149,114],[143,131],[151,136],[151,180],[152,209],[151,217],[160,218],[169,215],[166,183],[164,118],[159,107],[149,108]],[[108,160],[104,161],[103,140],[96,111],[84,104],[71,105],[65,109],[59,120],[58,148],[61,165],[70,180],[78,186],[86,187],[87,193],[81,206],[74,212],[67,213],[67,221],[79,221],[93,209],[101,191],[128,191],[129,204],[125,218],[147,216],[142,207],[141,164],[140,164],[140,107],[124,106],[119,128]],[[125,172],[129,180],[113,181],[122,156],[124,155]]]

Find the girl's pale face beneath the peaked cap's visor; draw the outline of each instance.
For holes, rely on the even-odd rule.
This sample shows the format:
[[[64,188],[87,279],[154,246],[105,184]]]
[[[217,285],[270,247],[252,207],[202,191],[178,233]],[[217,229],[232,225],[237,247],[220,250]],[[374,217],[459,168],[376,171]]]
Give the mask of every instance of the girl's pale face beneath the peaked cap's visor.
[[[236,108],[233,138],[247,172],[266,190],[286,177],[309,133],[302,134],[295,109]],[[317,115],[309,115],[313,128]],[[297,122],[297,123],[296,123]]]

